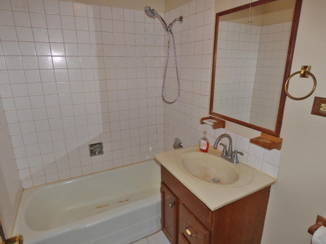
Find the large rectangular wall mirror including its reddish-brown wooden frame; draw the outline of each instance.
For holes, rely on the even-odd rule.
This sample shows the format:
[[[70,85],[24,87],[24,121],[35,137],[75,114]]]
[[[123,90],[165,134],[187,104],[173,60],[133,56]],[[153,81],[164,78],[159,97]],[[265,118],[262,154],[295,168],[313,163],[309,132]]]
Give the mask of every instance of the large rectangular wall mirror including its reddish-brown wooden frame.
[[[209,114],[280,136],[302,0],[216,14]]]

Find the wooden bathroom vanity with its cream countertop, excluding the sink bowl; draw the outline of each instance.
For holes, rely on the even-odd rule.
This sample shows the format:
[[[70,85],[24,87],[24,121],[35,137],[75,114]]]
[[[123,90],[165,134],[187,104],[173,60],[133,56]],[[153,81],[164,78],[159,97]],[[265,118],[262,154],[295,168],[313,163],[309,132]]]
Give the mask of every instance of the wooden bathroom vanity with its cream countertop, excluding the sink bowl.
[[[216,157],[220,152],[210,151]],[[259,244],[275,179],[249,167],[253,174],[246,185],[214,185],[180,167],[189,158],[201,164],[200,158],[206,161],[206,156],[197,147],[155,156],[161,164],[161,223],[165,235],[172,244]],[[239,176],[237,181],[241,180]]]

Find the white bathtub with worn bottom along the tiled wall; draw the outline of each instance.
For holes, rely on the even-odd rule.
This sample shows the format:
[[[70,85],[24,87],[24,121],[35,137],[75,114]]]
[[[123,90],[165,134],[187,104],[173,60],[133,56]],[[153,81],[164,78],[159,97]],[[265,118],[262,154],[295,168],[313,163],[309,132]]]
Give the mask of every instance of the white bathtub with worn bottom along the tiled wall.
[[[150,160],[24,190],[13,234],[25,244],[127,244],[160,228],[160,167]]]

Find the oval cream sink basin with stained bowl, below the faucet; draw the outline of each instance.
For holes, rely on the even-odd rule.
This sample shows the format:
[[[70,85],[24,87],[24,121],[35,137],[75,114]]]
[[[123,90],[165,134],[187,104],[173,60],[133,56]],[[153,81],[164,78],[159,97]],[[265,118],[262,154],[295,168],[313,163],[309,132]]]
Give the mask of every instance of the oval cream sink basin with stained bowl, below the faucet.
[[[184,149],[177,156],[177,164],[189,176],[220,187],[241,187],[253,179],[248,166],[228,162],[221,158],[220,150],[213,148],[208,153],[198,148]]]

